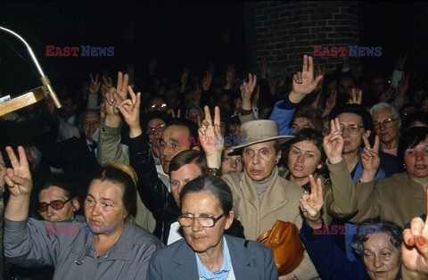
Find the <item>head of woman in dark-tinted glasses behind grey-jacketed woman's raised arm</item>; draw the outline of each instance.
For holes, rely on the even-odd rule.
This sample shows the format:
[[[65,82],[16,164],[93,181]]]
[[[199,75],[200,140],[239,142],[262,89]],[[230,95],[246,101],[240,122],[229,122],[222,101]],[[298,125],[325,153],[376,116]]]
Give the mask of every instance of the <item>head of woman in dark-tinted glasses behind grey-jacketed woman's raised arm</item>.
[[[80,207],[76,190],[72,181],[53,174],[38,193],[38,213],[49,222],[74,219]]]

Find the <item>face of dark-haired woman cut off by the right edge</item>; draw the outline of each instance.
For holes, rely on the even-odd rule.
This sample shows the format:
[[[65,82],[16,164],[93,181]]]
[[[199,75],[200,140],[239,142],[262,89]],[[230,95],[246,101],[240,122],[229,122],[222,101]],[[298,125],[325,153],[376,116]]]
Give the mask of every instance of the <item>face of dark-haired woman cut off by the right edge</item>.
[[[428,137],[415,148],[407,148],[404,152],[404,163],[410,177],[428,176]]]

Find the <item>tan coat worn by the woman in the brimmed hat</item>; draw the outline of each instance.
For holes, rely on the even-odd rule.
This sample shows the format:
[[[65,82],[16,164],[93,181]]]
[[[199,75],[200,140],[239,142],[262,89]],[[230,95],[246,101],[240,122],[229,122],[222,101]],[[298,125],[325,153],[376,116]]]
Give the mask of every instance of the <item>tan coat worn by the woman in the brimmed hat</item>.
[[[247,239],[256,240],[259,235],[272,228],[277,219],[292,222],[297,227],[301,227],[300,186],[279,177],[277,168],[273,172],[272,181],[261,203],[251,177],[245,170],[223,177],[234,194],[234,210],[243,224],[243,233]],[[317,270],[306,251],[300,266],[293,273],[298,279],[317,277]]]

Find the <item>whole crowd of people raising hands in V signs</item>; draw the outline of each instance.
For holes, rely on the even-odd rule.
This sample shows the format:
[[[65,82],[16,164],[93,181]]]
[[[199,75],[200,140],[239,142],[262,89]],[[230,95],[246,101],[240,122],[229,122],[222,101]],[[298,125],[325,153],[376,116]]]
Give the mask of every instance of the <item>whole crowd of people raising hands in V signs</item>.
[[[428,279],[428,80],[406,60],[177,81],[152,60],[2,117],[3,275]],[[277,220],[293,264],[257,242]]]

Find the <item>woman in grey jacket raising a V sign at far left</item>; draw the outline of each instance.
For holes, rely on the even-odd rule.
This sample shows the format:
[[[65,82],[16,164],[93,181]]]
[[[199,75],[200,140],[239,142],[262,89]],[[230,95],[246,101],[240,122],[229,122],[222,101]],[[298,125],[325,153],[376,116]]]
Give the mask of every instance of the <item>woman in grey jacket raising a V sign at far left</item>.
[[[11,147],[6,152],[12,163],[4,176],[11,193],[4,212],[4,256],[9,262],[54,267],[53,279],[145,277],[152,252],[162,244],[134,222],[133,169],[121,163],[104,165],[86,194],[86,222],[52,224],[28,217],[32,179],[24,149],[18,147],[19,159]]]

